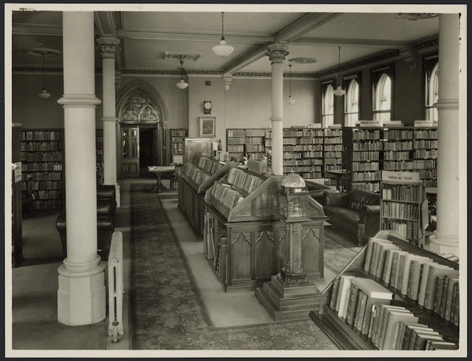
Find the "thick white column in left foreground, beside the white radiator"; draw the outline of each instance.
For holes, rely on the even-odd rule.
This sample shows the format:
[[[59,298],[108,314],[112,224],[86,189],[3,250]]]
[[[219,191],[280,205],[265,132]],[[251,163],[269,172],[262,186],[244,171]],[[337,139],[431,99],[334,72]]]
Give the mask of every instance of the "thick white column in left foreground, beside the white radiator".
[[[88,325],[105,316],[105,265],[97,255],[94,18],[63,12],[65,211],[68,257],[58,269],[58,321]]]

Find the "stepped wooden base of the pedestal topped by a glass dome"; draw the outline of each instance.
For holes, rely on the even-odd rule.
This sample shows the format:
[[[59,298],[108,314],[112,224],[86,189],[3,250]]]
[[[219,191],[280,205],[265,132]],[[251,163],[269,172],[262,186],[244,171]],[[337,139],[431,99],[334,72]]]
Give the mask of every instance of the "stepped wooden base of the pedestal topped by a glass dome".
[[[264,282],[255,295],[274,321],[306,319],[310,311],[318,312],[321,301],[321,292],[313,281],[288,284],[280,274]]]

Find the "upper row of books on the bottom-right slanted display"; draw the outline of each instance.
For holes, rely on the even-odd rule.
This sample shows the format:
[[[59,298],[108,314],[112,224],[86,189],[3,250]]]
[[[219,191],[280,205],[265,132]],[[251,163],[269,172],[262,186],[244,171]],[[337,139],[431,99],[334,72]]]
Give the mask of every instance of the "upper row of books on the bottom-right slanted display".
[[[412,301],[417,301],[419,306],[428,310],[434,310],[436,301],[436,304],[439,303],[439,306],[436,307],[439,311],[440,305],[443,303],[443,293],[445,293],[443,306],[448,311],[443,310],[441,314],[444,315],[446,312],[451,314],[454,285],[451,285],[451,292],[448,288],[446,292],[443,289],[443,293],[441,293],[436,290],[436,283],[441,277],[448,277],[448,281],[452,280],[451,284],[458,282],[458,270],[453,267],[439,265],[429,257],[402,250],[391,240],[370,238],[365,254],[364,270],[372,276],[382,279],[382,282],[397,289]],[[449,287],[449,282],[447,287]],[[458,307],[458,299],[454,306]]]

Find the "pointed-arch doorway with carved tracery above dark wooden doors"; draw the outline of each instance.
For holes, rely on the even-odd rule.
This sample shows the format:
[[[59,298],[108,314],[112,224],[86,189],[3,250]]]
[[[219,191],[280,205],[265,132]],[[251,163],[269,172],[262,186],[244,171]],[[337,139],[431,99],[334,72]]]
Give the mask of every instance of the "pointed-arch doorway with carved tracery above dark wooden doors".
[[[168,155],[162,102],[151,87],[136,82],[117,101],[119,177],[148,177],[149,165],[164,165]]]

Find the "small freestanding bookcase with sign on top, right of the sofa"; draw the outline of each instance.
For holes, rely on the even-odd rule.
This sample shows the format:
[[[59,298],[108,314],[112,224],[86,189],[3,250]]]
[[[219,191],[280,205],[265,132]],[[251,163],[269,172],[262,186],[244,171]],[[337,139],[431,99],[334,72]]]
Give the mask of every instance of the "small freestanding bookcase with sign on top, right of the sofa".
[[[424,247],[427,203],[419,173],[382,171],[380,194],[380,229],[395,230],[410,243]]]

